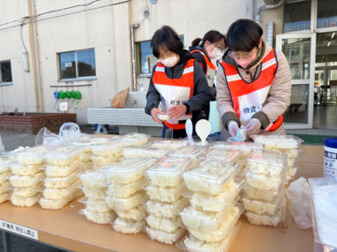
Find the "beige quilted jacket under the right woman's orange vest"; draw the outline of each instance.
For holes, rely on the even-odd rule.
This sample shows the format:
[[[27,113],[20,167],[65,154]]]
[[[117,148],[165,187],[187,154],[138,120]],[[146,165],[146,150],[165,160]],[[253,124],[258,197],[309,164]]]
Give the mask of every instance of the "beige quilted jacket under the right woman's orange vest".
[[[252,65],[249,69],[243,69],[242,67],[235,65],[234,59],[224,55],[224,62],[235,65],[239,69],[239,73],[242,78],[248,82],[252,81],[255,74],[259,76],[261,72],[260,63],[263,61],[263,58],[270,53],[271,47],[266,42],[263,42],[263,53],[260,58]],[[290,104],[290,95],[291,95],[291,77],[289,65],[286,61],[286,57],[282,52],[277,52],[278,60],[278,69],[275,74],[274,80],[270,86],[270,94],[268,95],[265,103],[263,103],[263,109],[258,111],[253,115],[253,117],[260,119],[262,122],[262,130],[260,134],[286,134],[284,126],[280,126],[278,130],[274,132],[265,132],[264,128],[270,125],[270,122],[275,122],[280,115],[286,111],[286,107]],[[219,66],[216,73],[216,100],[217,100],[217,111],[220,113],[220,117],[223,121],[223,138],[229,136],[227,131],[227,122],[230,119],[236,120],[239,125],[239,118],[234,113],[231,95],[227,86],[227,81],[224,78],[223,68]]]

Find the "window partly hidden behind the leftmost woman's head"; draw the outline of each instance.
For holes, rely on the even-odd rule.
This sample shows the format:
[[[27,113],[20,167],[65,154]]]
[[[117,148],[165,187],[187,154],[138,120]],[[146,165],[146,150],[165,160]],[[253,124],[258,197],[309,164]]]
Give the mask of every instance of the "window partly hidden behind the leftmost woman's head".
[[[179,36],[184,44],[184,36]],[[153,56],[153,49],[150,47],[151,41],[136,42],[137,55],[137,74],[153,73],[153,66],[157,64],[158,59]]]

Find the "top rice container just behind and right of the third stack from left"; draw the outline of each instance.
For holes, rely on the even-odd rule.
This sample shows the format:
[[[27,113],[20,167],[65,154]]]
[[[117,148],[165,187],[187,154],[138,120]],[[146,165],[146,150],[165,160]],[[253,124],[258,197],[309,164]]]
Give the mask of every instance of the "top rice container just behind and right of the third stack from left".
[[[126,141],[106,141],[91,144],[90,148],[93,155],[107,157],[121,153],[121,148],[131,144],[132,142],[129,142],[128,144]]]

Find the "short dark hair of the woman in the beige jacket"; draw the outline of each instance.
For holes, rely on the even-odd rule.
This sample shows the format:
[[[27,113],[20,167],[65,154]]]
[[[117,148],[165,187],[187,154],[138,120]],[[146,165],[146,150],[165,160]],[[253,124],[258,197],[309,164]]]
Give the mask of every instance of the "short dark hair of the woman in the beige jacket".
[[[227,32],[228,50],[251,51],[259,47],[263,28],[250,19],[238,19]]]

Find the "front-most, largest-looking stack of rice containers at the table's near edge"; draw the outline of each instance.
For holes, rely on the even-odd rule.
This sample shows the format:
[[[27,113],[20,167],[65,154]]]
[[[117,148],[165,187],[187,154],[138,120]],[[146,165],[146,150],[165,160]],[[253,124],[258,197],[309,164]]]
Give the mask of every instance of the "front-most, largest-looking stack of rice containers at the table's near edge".
[[[228,150],[226,150],[228,151]],[[225,152],[225,151],[224,151]],[[230,160],[236,160],[240,151]],[[189,231],[178,246],[188,251],[224,251],[239,230],[244,206],[239,192],[245,179],[236,178],[240,164],[215,159],[201,159],[200,165],[184,172],[191,206],[180,212]]]

